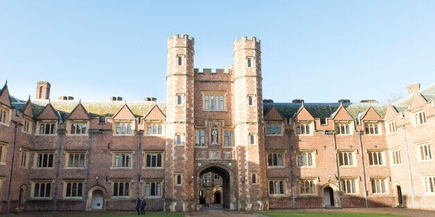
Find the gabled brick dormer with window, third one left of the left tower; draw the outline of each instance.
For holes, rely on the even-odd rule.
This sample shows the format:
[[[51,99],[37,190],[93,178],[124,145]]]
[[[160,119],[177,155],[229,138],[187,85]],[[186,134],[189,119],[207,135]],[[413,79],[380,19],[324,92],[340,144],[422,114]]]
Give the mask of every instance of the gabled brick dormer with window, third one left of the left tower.
[[[77,106],[66,117],[66,134],[67,135],[87,135],[89,130],[89,113],[79,102]]]

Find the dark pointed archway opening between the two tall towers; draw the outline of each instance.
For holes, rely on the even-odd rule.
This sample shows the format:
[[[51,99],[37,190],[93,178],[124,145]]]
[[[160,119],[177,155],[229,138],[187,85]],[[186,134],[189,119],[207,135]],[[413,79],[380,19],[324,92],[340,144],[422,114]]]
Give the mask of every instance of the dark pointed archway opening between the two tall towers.
[[[210,176],[212,175],[212,176]],[[208,164],[197,171],[195,195],[198,202],[206,205],[220,202],[222,208],[235,209],[233,173],[221,164]],[[216,200],[219,199],[219,200]]]

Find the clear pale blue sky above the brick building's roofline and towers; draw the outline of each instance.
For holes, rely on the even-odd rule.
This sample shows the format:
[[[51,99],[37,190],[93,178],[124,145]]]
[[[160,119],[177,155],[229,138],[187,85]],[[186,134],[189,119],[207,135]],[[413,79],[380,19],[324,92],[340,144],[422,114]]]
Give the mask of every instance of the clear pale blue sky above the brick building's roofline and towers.
[[[195,37],[195,68],[261,40],[263,98],[387,102],[435,82],[435,1],[3,1],[0,85],[35,98],[166,101],[166,40]]]

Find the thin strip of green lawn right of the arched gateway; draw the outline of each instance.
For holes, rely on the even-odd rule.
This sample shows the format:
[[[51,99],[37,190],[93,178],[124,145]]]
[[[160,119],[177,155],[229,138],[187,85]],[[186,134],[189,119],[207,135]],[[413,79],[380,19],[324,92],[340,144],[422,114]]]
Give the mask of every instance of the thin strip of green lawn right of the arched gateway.
[[[260,212],[265,216],[358,216],[358,217],[374,217],[374,216],[398,216],[392,214],[367,214],[367,213],[344,213],[344,212]]]

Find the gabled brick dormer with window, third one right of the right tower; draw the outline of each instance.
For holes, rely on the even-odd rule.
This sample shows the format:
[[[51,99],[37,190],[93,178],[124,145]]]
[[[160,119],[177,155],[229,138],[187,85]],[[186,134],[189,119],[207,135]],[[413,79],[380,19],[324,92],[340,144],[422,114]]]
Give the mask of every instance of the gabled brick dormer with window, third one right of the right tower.
[[[344,109],[340,104],[337,111],[332,114],[332,120],[334,121],[334,129],[337,135],[352,135],[353,129],[353,117]]]

